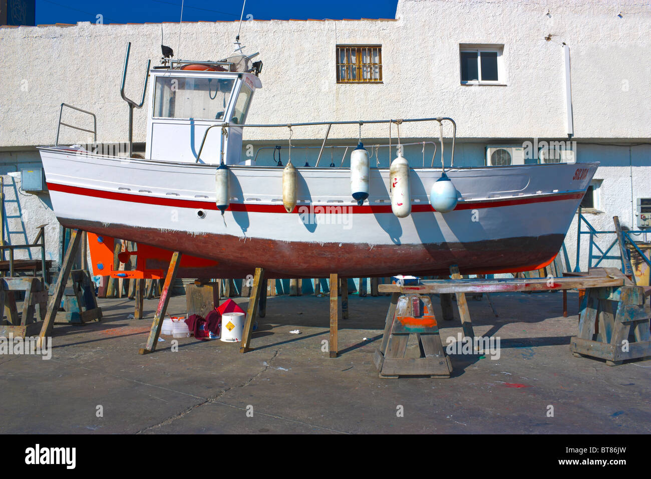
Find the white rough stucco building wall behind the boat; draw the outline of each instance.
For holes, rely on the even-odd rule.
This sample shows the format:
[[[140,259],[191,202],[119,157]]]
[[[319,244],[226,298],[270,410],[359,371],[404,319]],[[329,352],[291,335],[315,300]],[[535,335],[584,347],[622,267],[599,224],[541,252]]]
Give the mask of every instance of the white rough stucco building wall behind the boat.
[[[164,23],[175,56],[217,60],[228,56],[236,22]],[[147,59],[158,65],[159,23],[0,28],[6,87],[0,89],[0,173],[38,164],[37,145],[52,144],[59,106],[66,102],[97,115],[98,140],[126,141],[128,107],[119,94],[127,42],[132,52],[126,94],[139,99]],[[521,145],[533,138],[567,139],[563,44],[570,48],[572,121],[579,162],[600,161],[597,229],[613,229],[612,216],[635,229],[631,203],[651,197],[651,8],[643,0],[492,2],[400,0],[395,19],[250,21],[242,26],[245,51],[264,62],[262,89],[248,123],[449,116],[458,124],[456,166],[482,166],[489,145]],[[380,44],[383,83],[338,84],[337,44]],[[460,44],[503,46],[501,85],[462,85]],[[136,110],[133,137],[142,147],[145,108]],[[83,115],[64,121],[90,127]],[[295,128],[295,144],[320,144],[324,128]],[[365,126],[365,143],[387,143],[388,128]],[[393,129],[395,141],[395,126]],[[62,129],[62,143],[88,141]],[[404,141],[437,139],[435,124],[404,124]],[[450,135],[447,130],[446,135]],[[355,143],[357,126],[333,127],[333,144]],[[303,142],[301,143],[301,139]],[[286,145],[286,130],[245,130],[244,144]],[[616,145],[616,146],[612,146]],[[449,158],[449,143],[446,143]],[[317,150],[318,151],[318,150]],[[428,150],[429,151],[429,150]],[[421,164],[421,147],[406,149]],[[334,154],[337,158],[337,154]],[[426,162],[431,152],[426,152]],[[299,154],[299,158],[301,158]],[[286,159],[286,152],[283,152]],[[316,151],[309,152],[313,165]],[[386,166],[389,153],[380,150]],[[271,150],[260,153],[270,162]],[[326,150],[322,161],[329,163]],[[440,162],[437,154],[436,162]],[[447,160],[449,162],[449,160]],[[339,165],[339,160],[335,160]],[[9,197],[12,179],[5,176]],[[22,218],[5,216],[10,231],[35,231],[48,222],[48,255],[58,257],[58,227],[47,195],[18,199]],[[633,205],[634,206],[634,205]],[[8,207],[8,206],[7,206]],[[553,212],[550,212],[553,214]],[[14,233],[12,233],[14,234]],[[35,233],[27,233],[29,240]],[[575,225],[566,245],[574,263]],[[11,237],[10,240],[17,241]],[[609,241],[608,241],[609,242]],[[587,252],[583,248],[582,252]],[[585,256],[585,255],[584,255]],[[18,257],[18,255],[17,255]],[[582,265],[582,267],[587,266]]]

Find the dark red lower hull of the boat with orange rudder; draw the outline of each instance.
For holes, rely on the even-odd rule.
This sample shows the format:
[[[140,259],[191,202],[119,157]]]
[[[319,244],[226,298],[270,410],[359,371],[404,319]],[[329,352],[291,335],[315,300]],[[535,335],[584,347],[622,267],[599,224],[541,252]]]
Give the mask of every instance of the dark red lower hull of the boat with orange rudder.
[[[112,261],[107,261],[113,255],[112,238],[156,247],[139,246],[139,273],[128,274],[134,278],[163,276],[173,251],[184,254],[178,276],[185,278],[245,278],[253,274],[256,267],[264,268],[267,278],[326,278],[331,273],[350,278],[449,275],[451,265],[458,265],[462,274],[516,272],[540,269],[551,263],[564,239],[564,235],[555,234],[465,243],[369,246],[190,235],[183,231],[163,232],[61,218],[59,221],[66,227],[111,239],[111,246],[104,242],[103,258],[98,253],[96,237],[90,240],[96,274],[109,274],[107,269],[98,270],[96,263],[102,263],[103,268],[112,267]]]

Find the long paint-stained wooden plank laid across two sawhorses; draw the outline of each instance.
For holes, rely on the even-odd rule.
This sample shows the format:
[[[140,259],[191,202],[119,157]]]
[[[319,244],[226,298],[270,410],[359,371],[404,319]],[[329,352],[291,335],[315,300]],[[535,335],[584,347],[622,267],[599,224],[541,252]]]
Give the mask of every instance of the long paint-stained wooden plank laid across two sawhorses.
[[[402,294],[418,293],[420,295],[452,293],[506,293],[512,291],[554,291],[562,289],[586,289],[622,286],[620,278],[591,278],[576,276],[554,278],[548,285],[547,278],[512,278],[499,280],[424,280],[421,285],[400,286],[396,284],[379,285],[379,291]]]

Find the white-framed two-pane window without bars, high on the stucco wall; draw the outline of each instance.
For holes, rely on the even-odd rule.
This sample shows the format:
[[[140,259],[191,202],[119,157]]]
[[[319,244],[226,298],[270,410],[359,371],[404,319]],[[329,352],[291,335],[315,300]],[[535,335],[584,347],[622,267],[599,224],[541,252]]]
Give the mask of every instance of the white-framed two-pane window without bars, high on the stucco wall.
[[[459,46],[462,85],[506,85],[503,45]]]

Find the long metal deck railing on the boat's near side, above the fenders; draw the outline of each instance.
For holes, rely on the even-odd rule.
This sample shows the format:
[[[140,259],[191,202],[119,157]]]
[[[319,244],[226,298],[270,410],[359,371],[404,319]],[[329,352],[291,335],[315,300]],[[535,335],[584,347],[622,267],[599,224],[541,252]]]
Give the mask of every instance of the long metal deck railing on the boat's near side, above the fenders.
[[[201,158],[201,152],[203,151],[204,144],[206,143],[206,138],[208,138],[208,132],[212,130],[212,128],[219,127],[221,128],[221,135],[222,135],[222,141],[221,141],[221,162],[223,162],[223,155],[224,155],[224,143],[223,139],[225,139],[228,136],[228,131],[229,128],[235,127],[235,128],[289,128],[290,130],[294,126],[318,126],[318,125],[327,125],[326,128],[326,134],[324,135],[324,139],[321,143],[320,146],[320,151],[319,151],[319,156],[316,158],[316,164],[314,167],[319,166],[319,162],[321,160],[321,157],[323,156],[324,148],[326,148],[326,141],[327,138],[330,134],[330,129],[332,128],[333,124],[334,125],[344,125],[344,124],[359,124],[360,128],[360,139],[361,139],[361,127],[363,124],[389,124],[389,147],[392,146],[391,143],[391,126],[393,124],[396,124],[397,132],[398,132],[398,141],[400,138],[399,132],[400,132],[400,124],[402,123],[412,123],[412,122],[420,122],[420,121],[436,121],[439,123],[439,126],[441,127],[441,162],[443,161],[443,121],[449,121],[452,123],[452,157],[451,157],[451,162],[450,166],[454,166],[454,143],[456,141],[456,123],[454,123],[454,120],[451,119],[450,117],[434,117],[434,118],[406,118],[406,119],[390,119],[390,120],[358,120],[358,121],[312,121],[312,122],[307,122],[307,123],[281,123],[281,124],[230,124],[230,123],[220,123],[220,124],[213,124],[208,126],[206,128],[206,131],[204,132],[203,139],[201,140],[201,146],[199,147],[199,152],[197,154],[197,160],[196,162],[199,163],[199,159]],[[432,166],[434,166],[434,158],[432,158]]]

